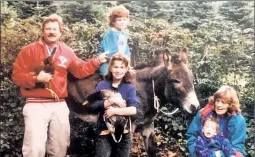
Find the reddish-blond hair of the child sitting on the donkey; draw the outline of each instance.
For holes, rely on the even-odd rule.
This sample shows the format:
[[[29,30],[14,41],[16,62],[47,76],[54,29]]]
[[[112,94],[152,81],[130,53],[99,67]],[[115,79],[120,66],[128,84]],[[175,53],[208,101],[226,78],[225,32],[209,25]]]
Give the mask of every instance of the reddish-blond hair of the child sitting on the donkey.
[[[129,16],[129,10],[127,10],[124,6],[115,6],[110,10],[109,14],[109,25],[113,27],[113,23],[118,17],[127,17]]]

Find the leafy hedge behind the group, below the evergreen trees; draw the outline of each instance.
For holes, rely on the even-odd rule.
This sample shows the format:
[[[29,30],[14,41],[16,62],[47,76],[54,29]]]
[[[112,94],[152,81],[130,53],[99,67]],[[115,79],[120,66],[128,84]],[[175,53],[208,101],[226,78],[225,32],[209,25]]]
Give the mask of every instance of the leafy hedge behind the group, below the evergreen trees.
[[[24,45],[39,39],[41,22],[41,17],[32,16],[23,20],[7,20],[4,25],[1,25],[1,156],[21,156],[24,131],[22,116],[24,98],[21,97],[18,87],[14,85],[11,80],[11,69],[12,63],[20,49]],[[99,41],[106,29],[107,25],[102,24],[101,21],[94,20],[93,23],[88,23],[84,20],[68,25],[68,27],[65,28],[62,40],[67,45],[71,46],[80,58],[86,60],[97,53]],[[217,30],[223,32],[217,33]],[[143,21],[132,19],[128,33],[130,36],[129,44],[133,65],[141,61],[152,59],[154,51],[160,47],[168,46],[172,53],[178,52],[184,46],[188,47],[190,61],[192,61],[190,66],[197,79],[196,92],[201,102],[203,102],[201,104],[202,106],[207,102],[208,96],[214,93],[221,84],[236,84],[236,82],[228,80],[231,78],[228,76],[229,73],[236,75],[240,75],[240,71],[249,73],[247,69],[243,68],[243,66],[247,65],[246,62],[243,62],[243,59],[236,60],[240,64],[232,64],[233,58],[229,56],[233,55],[231,53],[233,48],[231,49],[229,40],[219,40],[218,43],[214,43],[218,38],[225,38],[224,33],[234,33],[238,38],[237,32],[232,30],[218,29],[216,25],[214,26],[212,24],[205,26],[205,28],[199,28],[199,30],[195,32],[191,32],[187,29],[170,26],[165,20],[161,19],[145,19]],[[242,40],[245,41],[243,42],[244,47],[242,53],[238,53],[238,51],[241,50],[239,47],[233,51],[237,58],[245,55],[249,56],[254,49],[254,46],[252,47],[251,45],[251,41],[253,41],[254,37],[252,38],[245,34],[242,34],[241,37]],[[213,45],[208,53],[205,51],[206,44]],[[228,55],[224,54],[225,48],[222,48],[224,44],[225,46],[227,45],[226,50],[231,50],[227,52]],[[201,61],[205,54],[207,54],[205,60]],[[249,57],[245,59],[252,63],[252,59],[249,59]],[[234,65],[236,66],[235,68],[233,68]],[[221,70],[222,67],[225,69]],[[236,86],[240,93],[245,116],[252,115],[251,111],[254,111],[254,91],[252,89],[254,84],[251,83],[252,75],[246,76],[247,78],[242,78],[245,85]],[[166,106],[166,108],[171,110],[170,106]],[[254,117],[252,115],[251,117],[246,116],[246,118],[248,133],[246,151],[248,156],[252,156],[254,155]],[[158,137],[158,146],[161,151],[177,151],[178,156],[188,155],[185,133],[191,119],[192,117],[184,115],[183,113],[177,113],[172,117],[159,114],[155,121],[155,130]],[[93,125],[85,123],[72,115],[70,115],[70,122],[72,145],[68,153],[77,156],[93,155]]]

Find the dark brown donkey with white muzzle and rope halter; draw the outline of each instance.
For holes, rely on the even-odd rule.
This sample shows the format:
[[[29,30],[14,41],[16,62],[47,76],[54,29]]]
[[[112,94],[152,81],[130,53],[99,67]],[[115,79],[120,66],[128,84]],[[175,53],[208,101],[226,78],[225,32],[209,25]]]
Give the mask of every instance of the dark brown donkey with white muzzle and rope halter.
[[[170,103],[190,114],[195,114],[199,108],[194,77],[188,65],[187,49],[184,48],[178,55],[167,52],[163,56],[164,64],[136,66],[136,77],[131,82],[137,90],[140,102],[137,114],[131,117],[132,131],[142,134],[148,157],[156,156],[154,120],[161,111],[159,104],[163,106]],[[91,113],[88,108],[79,104],[95,92],[100,80],[97,73],[81,80],[69,77],[67,104],[84,121],[96,121],[96,113]]]

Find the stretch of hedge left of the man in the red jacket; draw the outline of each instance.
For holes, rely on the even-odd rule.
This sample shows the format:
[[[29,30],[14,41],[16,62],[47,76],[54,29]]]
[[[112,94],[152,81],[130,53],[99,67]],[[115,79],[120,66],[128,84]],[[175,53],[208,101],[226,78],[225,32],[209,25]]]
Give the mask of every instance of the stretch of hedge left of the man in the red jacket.
[[[21,156],[24,133],[22,106],[25,101],[11,80],[12,63],[20,49],[38,39],[39,24],[33,19],[8,21],[1,25],[1,156]],[[23,40],[20,40],[23,39]]]

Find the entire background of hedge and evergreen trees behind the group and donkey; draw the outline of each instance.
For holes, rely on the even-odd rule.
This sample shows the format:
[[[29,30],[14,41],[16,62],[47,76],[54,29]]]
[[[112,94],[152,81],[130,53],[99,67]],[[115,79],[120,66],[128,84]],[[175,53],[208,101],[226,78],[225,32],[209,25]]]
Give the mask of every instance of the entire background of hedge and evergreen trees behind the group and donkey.
[[[150,61],[155,50],[189,49],[195,89],[201,103],[222,84],[237,89],[247,123],[246,152],[254,156],[254,2],[247,1],[1,1],[0,156],[22,156],[24,98],[11,80],[20,49],[41,36],[43,17],[63,17],[62,41],[86,60],[108,28],[107,12],[116,5],[130,10],[129,45],[132,64]],[[171,106],[162,108],[171,110]],[[160,113],[155,121],[158,156],[187,156],[185,114]],[[70,115],[70,156],[94,154],[93,124]],[[141,136],[135,135],[131,156],[145,156]]]

